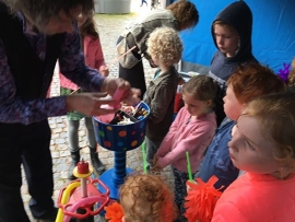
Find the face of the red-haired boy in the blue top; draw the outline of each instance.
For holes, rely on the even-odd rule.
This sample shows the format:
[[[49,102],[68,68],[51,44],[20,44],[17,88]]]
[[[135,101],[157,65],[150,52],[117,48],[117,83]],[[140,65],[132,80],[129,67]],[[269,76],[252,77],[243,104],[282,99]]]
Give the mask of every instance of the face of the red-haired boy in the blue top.
[[[224,113],[227,116],[227,118],[232,120],[237,120],[239,115],[243,112],[244,105],[239,103],[239,101],[236,97],[235,92],[233,91],[232,84],[229,84],[226,89],[226,94],[223,97],[223,108]]]

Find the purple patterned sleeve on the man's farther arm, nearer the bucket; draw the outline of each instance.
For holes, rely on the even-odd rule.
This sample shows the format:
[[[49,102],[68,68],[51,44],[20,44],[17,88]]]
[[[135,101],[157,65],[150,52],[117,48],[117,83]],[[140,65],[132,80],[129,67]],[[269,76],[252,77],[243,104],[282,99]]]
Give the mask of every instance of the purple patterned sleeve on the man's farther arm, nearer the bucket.
[[[66,37],[59,57],[59,67],[60,72],[64,77],[90,92],[99,92],[101,85],[105,80],[96,69],[85,65],[76,25],[74,26],[74,32]]]

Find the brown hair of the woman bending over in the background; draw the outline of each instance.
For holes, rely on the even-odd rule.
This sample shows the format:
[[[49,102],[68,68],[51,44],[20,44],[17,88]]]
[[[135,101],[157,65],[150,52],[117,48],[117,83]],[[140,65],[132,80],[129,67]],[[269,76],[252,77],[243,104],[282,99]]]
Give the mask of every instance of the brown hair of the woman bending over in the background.
[[[180,31],[194,27],[199,22],[199,12],[191,1],[178,0],[168,7],[175,19],[178,21]]]

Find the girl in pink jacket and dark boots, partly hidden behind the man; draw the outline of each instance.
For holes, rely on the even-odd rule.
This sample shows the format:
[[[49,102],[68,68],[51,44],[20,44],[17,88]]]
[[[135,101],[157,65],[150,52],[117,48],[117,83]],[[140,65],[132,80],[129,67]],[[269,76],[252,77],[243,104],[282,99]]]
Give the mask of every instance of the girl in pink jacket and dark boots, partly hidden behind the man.
[[[85,63],[93,68],[97,69],[99,73],[104,77],[108,75],[108,67],[105,65],[105,59],[102,50],[102,45],[99,42],[98,32],[96,31],[95,22],[93,20],[93,14],[83,15],[81,14],[78,20],[78,26],[81,36],[81,45],[85,55]],[[68,80],[62,73],[59,74],[60,78],[60,94],[69,95],[71,93],[80,93],[82,90],[79,90],[78,85]],[[96,140],[94,136],[92,117],[83,116],[79,112],[70,112],[67,115],[68,118],[68,137],[70,143],[71,152],[71,165],[68,171],[69,179],[75,179],[72,174],[74,166],[80,161],[80,147],[79,147],[79,136],[78,130],[80,126],[80,119],[84,118],[85,126],[87,130],[87,140],[90,147],[91,162],[94,167],[94,172],[99,175],[105,171],[105,167],[96,151]]]

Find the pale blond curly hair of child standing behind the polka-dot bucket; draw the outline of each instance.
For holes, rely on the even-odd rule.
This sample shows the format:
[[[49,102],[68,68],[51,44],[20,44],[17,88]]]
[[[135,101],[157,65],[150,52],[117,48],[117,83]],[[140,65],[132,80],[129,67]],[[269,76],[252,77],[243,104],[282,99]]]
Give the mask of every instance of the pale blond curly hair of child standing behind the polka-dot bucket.
[[[170,67],[181,58],[182,43],[179,34],[170,27],[157,27],[148,38],[148,54]]]

